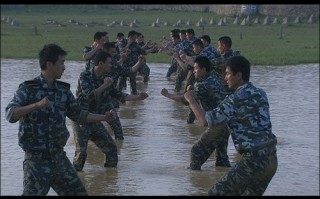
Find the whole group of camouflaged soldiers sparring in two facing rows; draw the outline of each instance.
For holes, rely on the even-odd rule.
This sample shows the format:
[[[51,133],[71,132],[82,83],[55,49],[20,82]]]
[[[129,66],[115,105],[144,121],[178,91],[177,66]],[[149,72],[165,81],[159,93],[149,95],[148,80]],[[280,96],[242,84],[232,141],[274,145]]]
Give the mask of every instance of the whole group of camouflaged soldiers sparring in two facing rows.
[[[243,159],[236,163],[209,195],[262,195],[276,169],[276,137],[271,131],[268,100],[249,82],[250,63],[231,49],[229,36],[195,37],[193,29],[174,29],[162,46],[143,43],[143,35],[131,30],[127,38],[96,32],[83,52],[86,61],[75,96],[68,83],[59,81],[65,70],[66,51],[47,44],[39,52],[41,74],[19,85],[6,107],[6,119],[20,122],[19,145],[25,151],[23,195],[88,195],[77,172],[83,170],[91,140],[105,154],[105,167],[117,167],[116,140],[123,131],[116,108],[126,101],[145,100],[138,92],[136,76],[149,81],[148,53],[172,56],[167,77],[176,73],[175,93],[161,94],[189,106],[187,123],[195,119],[208,128],[191,148],[189,168],[201,166],[215,152],[215,166],[231,167],[227,154],[231,137]],[[141,44],[140,44],[141,43]],[[123,92],[129,78],[131,94]],[[185,87],[181,94],[182,84]],[[75,140],[73,164],[64,146],[69,138],[66,117],[71,119]],[[102,123],[107,122],[115,136]]]

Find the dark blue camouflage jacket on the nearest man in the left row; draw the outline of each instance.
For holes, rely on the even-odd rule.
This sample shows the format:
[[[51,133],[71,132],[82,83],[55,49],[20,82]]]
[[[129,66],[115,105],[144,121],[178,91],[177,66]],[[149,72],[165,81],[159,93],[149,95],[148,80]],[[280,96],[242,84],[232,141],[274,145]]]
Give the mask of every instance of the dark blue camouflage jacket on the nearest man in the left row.
[[[24,151],[52,150],[63,148],[70,136],[66,117],[84,123],[88,112],[82,111],[70,91],[70,85],[54,81],[53,88],[40,75],[19,85],[13,99],[6,107],[6,119],[13,123],[15,107],[26,106],[48,96],[51,106],[28,113],[19,120],[19,146]]]

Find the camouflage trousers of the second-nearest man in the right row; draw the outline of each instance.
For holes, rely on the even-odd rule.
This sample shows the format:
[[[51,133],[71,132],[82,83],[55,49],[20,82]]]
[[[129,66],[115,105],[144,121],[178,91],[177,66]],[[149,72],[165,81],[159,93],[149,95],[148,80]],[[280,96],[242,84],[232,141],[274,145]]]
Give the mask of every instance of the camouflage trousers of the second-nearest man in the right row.
[[[230,133],[226,125],[208,128],[200,139],[192,146],[190,169],[200,170],[213,152],[216,156],[216,166],[230,167],[227,154]]]

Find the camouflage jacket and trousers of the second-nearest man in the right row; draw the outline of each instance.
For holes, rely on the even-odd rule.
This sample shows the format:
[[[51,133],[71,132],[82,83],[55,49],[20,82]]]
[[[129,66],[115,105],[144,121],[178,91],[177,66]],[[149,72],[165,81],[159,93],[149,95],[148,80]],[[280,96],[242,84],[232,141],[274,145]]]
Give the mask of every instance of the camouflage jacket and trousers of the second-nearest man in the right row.
[[[216,108],[226,95],[222,81],[219,77],[211,74],[205,78],[198,79],[194,84],[194,91],[205,111]],[[182,102],[188,105],[184,97]],[[226,125],[207,128],[191,149],[190,168],[192,170],[200,170],[203,163],[207,161],[215,150],[216,166],[230,167],[227,155],[229,135]]]

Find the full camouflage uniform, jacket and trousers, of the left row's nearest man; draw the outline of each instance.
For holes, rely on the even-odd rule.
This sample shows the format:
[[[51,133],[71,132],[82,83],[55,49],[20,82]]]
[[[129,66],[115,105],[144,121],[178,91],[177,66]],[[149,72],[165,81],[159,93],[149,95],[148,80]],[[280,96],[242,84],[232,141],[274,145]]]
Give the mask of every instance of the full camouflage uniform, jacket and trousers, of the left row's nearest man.
[[[54,81],[53,88],[49,88],[42,75],[23,82],[6,107],[6,119],[15,122],[15,107],[38,102],[45,96],[51,107],[34,110],[19,121],[19,146],[25,152],[23,195],[46,195],[50,187],[58,195],[87,195],[64,146],[70,135],[66,117],[84,123],[89,112],[81,111],[68,83]]]

